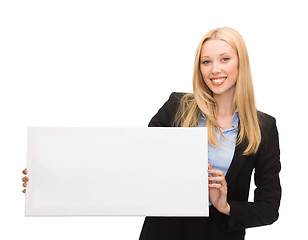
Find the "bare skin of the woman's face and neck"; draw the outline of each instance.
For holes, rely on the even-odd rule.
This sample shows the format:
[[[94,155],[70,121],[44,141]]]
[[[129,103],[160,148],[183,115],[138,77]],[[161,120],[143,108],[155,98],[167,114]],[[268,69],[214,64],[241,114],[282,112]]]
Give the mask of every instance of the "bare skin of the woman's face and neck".
[[[200,71],[217,103],[217,120],[222,130],[232,127],[232,101],[238,77],[238,56],[223,40],[208,40],[201,48]],[[227,77],[223,82],[213,81]]]

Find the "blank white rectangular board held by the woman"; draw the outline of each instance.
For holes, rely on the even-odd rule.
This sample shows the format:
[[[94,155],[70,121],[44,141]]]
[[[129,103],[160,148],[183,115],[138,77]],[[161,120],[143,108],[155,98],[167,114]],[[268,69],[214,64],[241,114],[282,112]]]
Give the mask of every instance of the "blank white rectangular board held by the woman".
[[[26,216],[208,216],[206,128],[28,128]]]

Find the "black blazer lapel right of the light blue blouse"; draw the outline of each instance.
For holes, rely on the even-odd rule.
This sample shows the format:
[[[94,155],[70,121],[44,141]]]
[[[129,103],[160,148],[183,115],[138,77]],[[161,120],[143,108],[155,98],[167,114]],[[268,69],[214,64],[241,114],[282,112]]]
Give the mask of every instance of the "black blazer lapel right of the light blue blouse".
[[[245,143],[241,143],[235,147],[233,159],[226,174],[226,181],[228,185],[230,185],[236,178],[247,158],[246,155],[243,155],[243,151],[246,149],[246,147],[247,144]]]

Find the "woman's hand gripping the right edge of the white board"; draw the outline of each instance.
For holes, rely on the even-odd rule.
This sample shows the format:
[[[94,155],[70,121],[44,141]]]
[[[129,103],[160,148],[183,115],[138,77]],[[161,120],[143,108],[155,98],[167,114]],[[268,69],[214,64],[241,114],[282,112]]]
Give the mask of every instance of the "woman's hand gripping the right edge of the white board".
[[[221,213],[230,215],[230,205],[227,202],[228,188],[224,173],[213,169],[211,164],[209,164],[208,173],[212,175],[212,177],[209,176],[209,195],[211,203]]]

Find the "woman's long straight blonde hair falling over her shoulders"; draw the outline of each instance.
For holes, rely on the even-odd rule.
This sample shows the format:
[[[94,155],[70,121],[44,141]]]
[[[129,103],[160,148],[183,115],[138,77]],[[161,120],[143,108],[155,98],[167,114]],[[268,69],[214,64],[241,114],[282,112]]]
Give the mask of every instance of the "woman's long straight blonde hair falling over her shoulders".
[[[200,71],[201,48],[207,40],[226,41],[237,52],[238,79],[233,99],[233,110],[235,111],[237,108],[240,120],[237,144],[247,140],[248,146],[243,154],[256,153],[261,142],[261,131],[254,100],[249,57],[242,36],[232,28],[223,27],[211,30],[200,41],[194,64],[194,92],[185,94],[182,97],[180,107],[176,113],[175,124],[181,127],[196,127],[203,112],[206,115],[209,143],[217,147],[219,142],[215,132],[215,125],[219,126],[215,111],[217,106],[213,93],[205,84]]]

